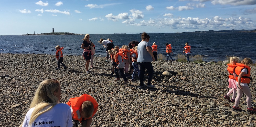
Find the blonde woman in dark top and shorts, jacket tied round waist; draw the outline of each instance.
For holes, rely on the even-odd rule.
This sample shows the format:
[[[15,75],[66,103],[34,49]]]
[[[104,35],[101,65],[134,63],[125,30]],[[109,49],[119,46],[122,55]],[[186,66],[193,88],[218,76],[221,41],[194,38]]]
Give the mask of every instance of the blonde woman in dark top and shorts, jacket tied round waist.
[[[89,74],[91,72],[91,70],[89,70],[88,68],[89,68],[89,63],[92,55],[91,46],[94,46],[94,44],[92,43],[91,40],[89,40],[89,38],[90,38],[90,35],[86,34],[82,39],[83,43],[81,45],[81,48],[83,49],[83,59],[86,60],[86,64],[85,64],[86,74]]]

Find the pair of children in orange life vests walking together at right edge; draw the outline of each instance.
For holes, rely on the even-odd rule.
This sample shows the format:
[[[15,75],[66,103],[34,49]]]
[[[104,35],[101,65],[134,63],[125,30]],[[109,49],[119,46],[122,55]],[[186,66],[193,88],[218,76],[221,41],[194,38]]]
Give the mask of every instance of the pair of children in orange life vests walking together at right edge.
[[[229,85],[228,88],[231,88],[226,95],[223,97],[230,102],[234,102],[234,106],[232,107],[234,110],[242,111],[241,108],[238,107],[239,101],[243,95],[246,95],[247,102],[247,110],[248,111],[256,111],[256,108],[252,107],[252,97],[250,88],[248,84],[250,83],[250,65],[253,64],[252,60],[249,58],[244,58],[240,63],[240,59],[238,57],[230,57],[230,63],[228,65],[228,73],[229,73]],[[230,100],[229,96],[232,93],[232,98]],[[236,97],[237,93],[237,97]]]

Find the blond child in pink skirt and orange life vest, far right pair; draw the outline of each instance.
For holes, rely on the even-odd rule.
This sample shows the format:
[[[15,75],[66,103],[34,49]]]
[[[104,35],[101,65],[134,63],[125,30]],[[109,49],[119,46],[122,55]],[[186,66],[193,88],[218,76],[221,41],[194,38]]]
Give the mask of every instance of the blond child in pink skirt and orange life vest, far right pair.
[[[228,64],[228,73],[229,73],[229,79],[228,79],[228,88],[231,88],[226,95],[224,95],[224,98],[227,99],[230,102],[235,102],[236,94],[237,94],[237,87],[236,87],[236,74],[234,72],[234,69],[237,67],[236,63],[239,62],[238,57],[230,57]],[[232,98],[230,100],[229,95],[232,94]]]

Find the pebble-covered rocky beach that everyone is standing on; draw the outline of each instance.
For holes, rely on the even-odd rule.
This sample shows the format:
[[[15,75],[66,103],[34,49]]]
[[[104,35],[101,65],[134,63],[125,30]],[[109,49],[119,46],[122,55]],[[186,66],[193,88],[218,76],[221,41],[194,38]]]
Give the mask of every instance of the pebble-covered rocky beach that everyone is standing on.
[[[223,98],[229,90],[227,65],[152,62],[156,88],[142,89],[138,81],[130,81],[131,76],[128,84],[115,82],[115,75],[110,76],[112,65],[104,57],[95,57],[93,72],[86,74],[81,56],[64,56],[67,70],[55,70],[54,55],[0,56],[0,126],[20,125],[39,83],[50,78],[61,83],[61,103],[84,93],[95,98],[99,108],[92,121],[94,127],[256,126],[256,115],[247,111],[245,95],[239,104],[241,112],[232,110],[234,103]],[[252,66],[249,87],[253,107],[255,73]]]

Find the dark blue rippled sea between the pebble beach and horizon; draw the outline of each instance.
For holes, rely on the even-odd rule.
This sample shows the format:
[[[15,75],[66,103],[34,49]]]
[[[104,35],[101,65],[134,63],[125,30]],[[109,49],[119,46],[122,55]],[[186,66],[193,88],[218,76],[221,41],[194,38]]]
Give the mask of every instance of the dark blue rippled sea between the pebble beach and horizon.
[[[203,60],[223,61],[229,56],[251,58],[256,61],[256,33],[149,33],[150,45],[158,46],[158,53],[166,55],[165,44],[171,44],[174,57],[183,54],[185,43],[191,46],[191,55],[202,55]],[[0,53],[52,54],[57,45],[64,47],[64,55],[82,55],[84,35],[0,35]],[[132,40],[141,41],[141,34],[90,34],[95,44],[96,56],[105,57],[106,49],[100,38],[113,40],[115,46],[128,45]],[[229,60],[229,59],[228,59]]]

